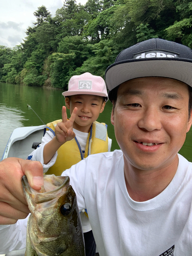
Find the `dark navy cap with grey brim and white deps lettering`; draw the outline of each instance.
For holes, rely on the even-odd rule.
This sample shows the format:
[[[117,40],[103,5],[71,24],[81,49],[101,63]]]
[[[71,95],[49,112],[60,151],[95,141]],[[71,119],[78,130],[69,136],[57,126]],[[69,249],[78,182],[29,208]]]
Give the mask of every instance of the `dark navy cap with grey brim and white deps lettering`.
[[[105,72],[109,98],[110,91],[119,84],[148,76],[173,78],[192,87],[192,50],[160,38],[124,49]]]

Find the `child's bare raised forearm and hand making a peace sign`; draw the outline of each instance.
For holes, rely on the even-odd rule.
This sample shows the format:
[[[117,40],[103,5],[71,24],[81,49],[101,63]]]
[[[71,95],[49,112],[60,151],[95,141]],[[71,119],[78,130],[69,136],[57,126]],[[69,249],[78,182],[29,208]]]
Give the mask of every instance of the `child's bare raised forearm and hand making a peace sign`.
[[[44,147],[44,164],[49,163],[62,144],[75,137],[75,133],[73,132],[73,122],[76,117],[76,112],[77,108],[73,110],[70,119],[68,119],[66,107],[62,107],[62,122],[57,123],[55,127],[55,137]]]

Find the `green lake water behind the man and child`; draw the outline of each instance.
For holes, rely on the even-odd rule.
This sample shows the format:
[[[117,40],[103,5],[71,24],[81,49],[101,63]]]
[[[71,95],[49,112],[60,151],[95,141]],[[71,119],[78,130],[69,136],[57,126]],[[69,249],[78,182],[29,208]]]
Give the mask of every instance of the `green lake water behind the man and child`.
[[[61,118],[62,105],[65,104],[61,93],[61,90],[50,88],[0,83],[0,159],[15,128],[42,124],[35,113],[27,108],[27,104],[31,106],[44,123],[48,123]],[[119,149],[119,146],[115,139],[114,127],[110,121],[111,111],[112,104],[108,101],[98,121],[108,124],[108,134],[112,139],[112,150],[115,150]],[[187,133],[186,141],[180,153],[189,161],[192,161],[192,129]]]

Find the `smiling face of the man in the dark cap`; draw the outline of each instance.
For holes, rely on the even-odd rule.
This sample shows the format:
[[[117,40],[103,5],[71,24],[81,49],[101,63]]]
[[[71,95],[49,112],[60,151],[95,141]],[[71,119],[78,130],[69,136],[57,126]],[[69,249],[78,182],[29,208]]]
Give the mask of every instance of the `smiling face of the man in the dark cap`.
[[[160,77],[122,83],[111,122],[128,164],[161,169],[172,164],[191,126],[186,84]]]

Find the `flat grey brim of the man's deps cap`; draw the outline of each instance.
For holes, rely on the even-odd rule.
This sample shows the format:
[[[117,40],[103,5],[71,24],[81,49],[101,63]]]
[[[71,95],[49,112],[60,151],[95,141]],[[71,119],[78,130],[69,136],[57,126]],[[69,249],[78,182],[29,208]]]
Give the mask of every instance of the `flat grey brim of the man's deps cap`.
[[[105,81],[111,91],[127,80],[148,76],[173,78],[192,87],[192,60],[153,58],[119,61],[106,69]]]

